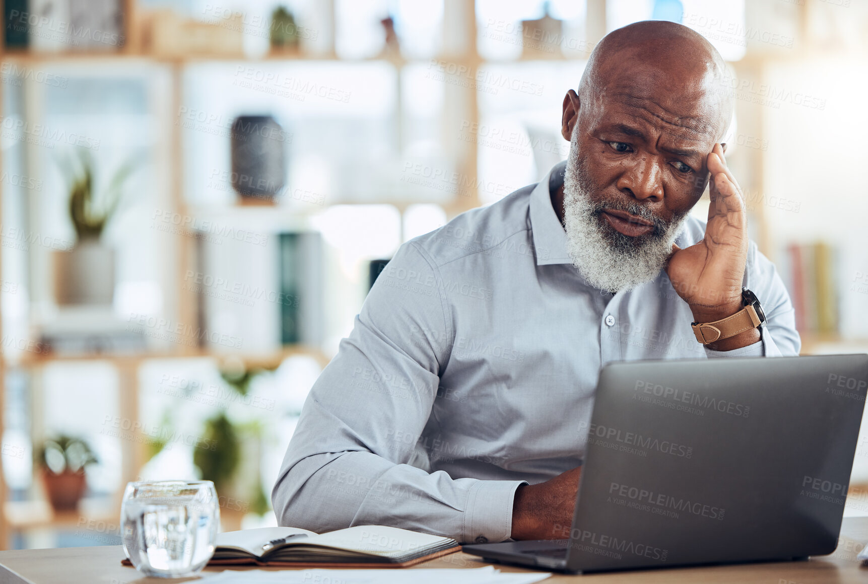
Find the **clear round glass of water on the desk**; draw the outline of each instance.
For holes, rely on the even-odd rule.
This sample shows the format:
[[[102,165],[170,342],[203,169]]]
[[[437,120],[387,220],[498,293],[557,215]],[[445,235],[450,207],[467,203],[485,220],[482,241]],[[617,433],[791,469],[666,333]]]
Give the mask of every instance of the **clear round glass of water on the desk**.
[[[129,482],[121,507],[123,551],[148,576],[181,578],[205,568],[220,526],[211,481]]]

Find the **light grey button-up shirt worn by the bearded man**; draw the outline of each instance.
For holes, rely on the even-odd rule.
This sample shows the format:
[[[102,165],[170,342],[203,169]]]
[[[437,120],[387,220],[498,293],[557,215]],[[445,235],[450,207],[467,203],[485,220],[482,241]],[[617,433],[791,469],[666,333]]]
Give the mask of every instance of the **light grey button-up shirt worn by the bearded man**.
[[[753,242],[745,284],[767,321],[735,351],[697,343],[665,272],[615,295],[588,285],[549,198],[563,169],[398,249],[307,397],[273,490],[281,525],[503,541],[519,485],[582,463],[602,364],[799,353]],[[704,233],[691,218],[676,243]]]

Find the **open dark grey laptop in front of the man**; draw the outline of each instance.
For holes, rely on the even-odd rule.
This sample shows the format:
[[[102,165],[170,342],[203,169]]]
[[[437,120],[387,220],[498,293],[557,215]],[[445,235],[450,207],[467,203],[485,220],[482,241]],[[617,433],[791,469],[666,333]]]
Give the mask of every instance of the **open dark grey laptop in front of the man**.
[[[865,354],[607,364],[564,539],[464,552],[574,573],[831,554],[866,389]]]

